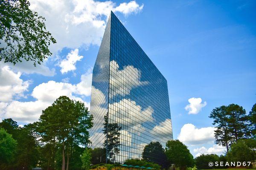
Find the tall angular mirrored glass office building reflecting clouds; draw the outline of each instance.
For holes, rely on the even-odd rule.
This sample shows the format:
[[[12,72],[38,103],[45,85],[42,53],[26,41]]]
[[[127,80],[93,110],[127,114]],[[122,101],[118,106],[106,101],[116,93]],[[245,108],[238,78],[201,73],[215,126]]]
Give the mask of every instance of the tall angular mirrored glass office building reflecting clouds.
[[[104,116],[121,127],[120,151],[110,158],[117,162],[141,159],[146,144],[165,148],[173,139],[167,81],[113,12],[93,68],[90,113],[92,148],[104,147]]]

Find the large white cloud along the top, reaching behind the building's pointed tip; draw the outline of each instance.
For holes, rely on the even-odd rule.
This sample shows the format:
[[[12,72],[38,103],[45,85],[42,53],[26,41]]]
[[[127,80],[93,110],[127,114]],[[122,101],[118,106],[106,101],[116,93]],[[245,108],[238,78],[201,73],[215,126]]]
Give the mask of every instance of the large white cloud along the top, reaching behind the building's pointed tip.
[[[47,30],[57,40],[50,47],[54,53],[64,47],[99,45],[111,10],[128,15],[143,9],[135,1],[120,5],[110,0],[30,0],[30,3],[32,10],[46,18]]]

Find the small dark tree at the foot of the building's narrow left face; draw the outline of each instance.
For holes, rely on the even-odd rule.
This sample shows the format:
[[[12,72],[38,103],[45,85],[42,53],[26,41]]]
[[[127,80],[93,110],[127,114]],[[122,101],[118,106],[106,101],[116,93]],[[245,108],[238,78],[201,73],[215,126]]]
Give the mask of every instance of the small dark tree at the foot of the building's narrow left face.
[[[92,153],[92,164],[102,164],[106,162],[106,148],[96,147],[90,150]]]

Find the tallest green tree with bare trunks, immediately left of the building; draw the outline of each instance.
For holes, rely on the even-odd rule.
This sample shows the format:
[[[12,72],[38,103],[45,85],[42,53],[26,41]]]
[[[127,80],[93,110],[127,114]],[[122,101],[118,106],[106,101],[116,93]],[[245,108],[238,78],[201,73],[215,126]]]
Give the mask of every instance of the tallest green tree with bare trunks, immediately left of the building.
[[[61,167],[65,170],[66,165],[68,170],[70,157],[73,160],[79,145],[86,147],[90,143],[88,130],[93,126],[92,119],[93,116],[89,114],[84,103],[73,101],[67,96],[60,96],[46,108],[37,125],[42,142],[52,147],[48,161],[52,159],[51,162],[55,162],[55,147],[61,147]]]

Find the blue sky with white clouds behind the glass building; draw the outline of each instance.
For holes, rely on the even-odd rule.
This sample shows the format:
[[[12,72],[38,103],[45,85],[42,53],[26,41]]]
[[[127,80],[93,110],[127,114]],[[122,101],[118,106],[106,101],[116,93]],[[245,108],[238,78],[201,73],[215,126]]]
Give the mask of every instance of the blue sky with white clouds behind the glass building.
[[[47,29],[57,39],[50,47],[53,55],[37,68],[29,62],[0,62],[0,77],[8,79],[0,83],[0,96],[5,96],[0,97],[0,119],[12,117],[21,125],[33,122],[59,95],[89,106],[87,82],[110,10],[166,77],[174,139],[187,144],[194,156],[223,151],[212,138],[208,116],[213,108],[235,103],[249,112],[256,102],[253,0],[44,3],[31,0],[31,8],[46,18]],[[62,73],[63,61],[67,72]],[[189,103],[191,98],[202,101]],[[192,114],[185,109],[189,104],[196,110]]]

